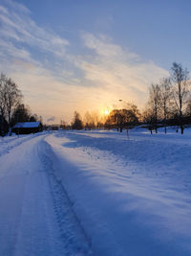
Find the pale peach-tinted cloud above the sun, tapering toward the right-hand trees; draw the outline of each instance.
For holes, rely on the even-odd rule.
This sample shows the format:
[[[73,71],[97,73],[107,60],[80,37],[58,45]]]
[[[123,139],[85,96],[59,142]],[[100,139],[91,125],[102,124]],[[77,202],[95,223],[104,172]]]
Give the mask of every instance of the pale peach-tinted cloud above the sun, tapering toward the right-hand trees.
[[[134,92],[146,93],[151,82],[168,76],[168,72],[153,61],[142,61],[137,54],[114,44],[106,36],[83,33],[82,38],[95,53],[92,58],[80,59],[77,64],[84,70],[87,80],[96,81],[107,89],[120,90],[121,95],[126,91],[127,97],[131,93],[135,99]]]

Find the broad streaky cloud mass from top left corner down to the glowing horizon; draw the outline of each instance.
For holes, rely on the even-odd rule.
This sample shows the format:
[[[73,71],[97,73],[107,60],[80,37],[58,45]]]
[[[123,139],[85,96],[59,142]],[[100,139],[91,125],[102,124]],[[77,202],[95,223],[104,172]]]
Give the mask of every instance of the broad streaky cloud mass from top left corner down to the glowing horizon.
[[[142,106],[148,85],[168,76],[106,35],[83,32],[76,54],[69,54],[73,42],[38,26],[30,15],[11,0],[0,5],[0,71],[16,81],[32,111],[45,119],[70,121],[74,110],[83,115],[117,105],[118,99]]]

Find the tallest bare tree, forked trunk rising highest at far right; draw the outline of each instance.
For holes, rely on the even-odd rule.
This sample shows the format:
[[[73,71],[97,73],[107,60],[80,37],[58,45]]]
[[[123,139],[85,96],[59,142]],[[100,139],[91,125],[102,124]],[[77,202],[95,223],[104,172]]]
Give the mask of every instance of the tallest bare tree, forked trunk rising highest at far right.
[[[171,81],[173,83],[173,96],[179,115],[181,134],[183,134],[183,107],[187,103],[187,98],[189,95],[188,75],[189,72],[186,68],[183,69],[181,64],[177,62],[173,63],[171,68]]]

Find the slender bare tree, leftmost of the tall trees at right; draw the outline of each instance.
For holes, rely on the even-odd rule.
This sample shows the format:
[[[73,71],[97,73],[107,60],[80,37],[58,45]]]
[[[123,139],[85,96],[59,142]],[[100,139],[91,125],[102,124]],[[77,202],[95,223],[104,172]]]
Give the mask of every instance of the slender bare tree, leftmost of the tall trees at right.
[[[149,102],[150,114],[153,116],[156,133],[158,132],[159,110],[160,110],[160,89],[159,84],[151,84],[149,88]]]

